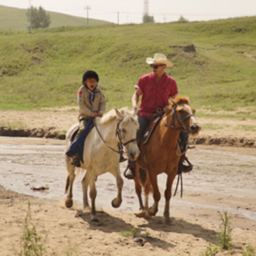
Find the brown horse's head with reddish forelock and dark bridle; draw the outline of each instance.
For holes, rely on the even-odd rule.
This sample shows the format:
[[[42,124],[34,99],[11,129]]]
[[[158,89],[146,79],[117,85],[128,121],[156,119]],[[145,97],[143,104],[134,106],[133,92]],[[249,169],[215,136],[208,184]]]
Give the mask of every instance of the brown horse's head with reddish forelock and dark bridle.
[[[194,116],[196,110],[190,106],[190,102],[186,96],[177,96],[171,100],[166,114],[173,116],[173,126],[179,128],[186,133],[196,137],[201,130],[200,125]]]

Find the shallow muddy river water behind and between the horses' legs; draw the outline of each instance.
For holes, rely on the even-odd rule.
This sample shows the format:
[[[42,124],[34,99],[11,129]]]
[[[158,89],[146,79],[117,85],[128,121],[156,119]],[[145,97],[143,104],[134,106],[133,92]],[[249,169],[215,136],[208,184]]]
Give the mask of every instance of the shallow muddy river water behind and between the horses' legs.
[[[3,140],[5,140],[3,142]],[[62,200],[65,198],[64,185],[66,182],[66,164],[64,161],[64,142],[56,140],[45,144],[42,139],[26,138],[7,139],[0,137],[0,184],[15,192]],[[54,140],[53,140],[54,141]],[[220,207],[212,202],[195,202],[190,196],[207,192],[215,198],[221,196],[235,196],[236,198],[256,199],[256,156],[238,154],[229,151],[194,149],[187,154],[194,163],[194,170],[183,175],[183,198],[179,192],[171,200],[171,205],[188,205],[205,209],[226,209],[236,215],[256,221],[256,212],[251,209],[240,209],[238,205]],[[125,170],[126,162],[121,163],[121,173]],[[74,184],[74,200],[82,203],[81,179],[77,177]],[[116,197],[116,180],[110,174],[98,177],[96,181],[98,209],[112,209],[117,211],[134,212],[139,210],[139,203],[135,194],[134,183],[123,178],[123,203],[118,209],[113,209],[111,201]],[[158,177],[163,208],[165,189],[165,175]],[[32,186],[48,184],[49,190],[34,191]],[[176,186],[176,181],[174,182]],[[173,186],[173,190],[175,189]],[[190,195],[186,198],[186,194]],[[191,197],[192,198],[192,197]],[[151,201],[152,202],[152,201]],[[254,208],[255,209],[255,208]],[[162,214],[162,210],[159,211]]]

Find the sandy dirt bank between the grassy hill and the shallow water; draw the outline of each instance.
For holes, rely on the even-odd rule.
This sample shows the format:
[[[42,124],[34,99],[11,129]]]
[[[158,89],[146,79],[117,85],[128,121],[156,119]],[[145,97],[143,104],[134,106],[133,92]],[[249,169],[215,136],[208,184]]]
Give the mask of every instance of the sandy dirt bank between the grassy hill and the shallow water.
[[[200,110],[198,110],[200,111]],[[0,111],[0,136],[65,139],[68,128],[77,123],[74,108],[41,112]],[[255,119],[197,118],[202,131],[190,144],[256,148]]]

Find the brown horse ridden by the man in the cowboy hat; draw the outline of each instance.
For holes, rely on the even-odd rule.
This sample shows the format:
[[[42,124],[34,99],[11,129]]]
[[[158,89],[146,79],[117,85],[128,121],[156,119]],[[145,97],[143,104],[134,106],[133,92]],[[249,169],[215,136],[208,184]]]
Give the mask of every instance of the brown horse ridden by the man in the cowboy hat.
[[[139,213],[135,213],[137,217],[148,218],[158,212],[158,202],[161,194],[158,189],[157,176],[160,173],[166,173],[167,181],[163,215],[166,222],[170,221],[171,188],[177,175],[181,158],[181,150],[178,145],[179,133],[184,131],[193,137],[198,135],[201,128],[196,122],[194,113],[195,110],[190,106],[188,98],[186,96],[177,96],[165,108],[165,114],[154,128],[148,142],[146,144],[140,142],[140,156],[136,162],[134,179],[141,209]],[[141,185],[144,186],[145,205],[142,203]],[[148,194],[150,190],[153,190],[154,204],[149,208]]]

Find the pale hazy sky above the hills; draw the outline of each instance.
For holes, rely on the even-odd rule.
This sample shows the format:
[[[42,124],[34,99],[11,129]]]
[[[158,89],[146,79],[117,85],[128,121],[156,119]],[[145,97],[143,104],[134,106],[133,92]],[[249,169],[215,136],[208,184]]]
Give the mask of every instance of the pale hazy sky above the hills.
[[[0,5],[28,9],[43,7],[60,12],[118,24],[142,23],[145,0],[0,0]],[[88,7],[88,8],[87,8]],[[88,9],[88,10],[87,10]],[[148,0],[148,14],[155,22],[217,20],[256,15],[256,0]]]

